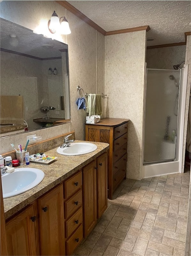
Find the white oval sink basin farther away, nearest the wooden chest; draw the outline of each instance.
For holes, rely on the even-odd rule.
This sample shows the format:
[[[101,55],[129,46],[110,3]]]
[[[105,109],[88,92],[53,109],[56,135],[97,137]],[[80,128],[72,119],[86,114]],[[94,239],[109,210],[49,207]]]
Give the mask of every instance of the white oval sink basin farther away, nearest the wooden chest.
[[[57,153],[65,156],[78,156],[93,152],[97,146],[88,142],[74,142],[67,148],[57,148]]]

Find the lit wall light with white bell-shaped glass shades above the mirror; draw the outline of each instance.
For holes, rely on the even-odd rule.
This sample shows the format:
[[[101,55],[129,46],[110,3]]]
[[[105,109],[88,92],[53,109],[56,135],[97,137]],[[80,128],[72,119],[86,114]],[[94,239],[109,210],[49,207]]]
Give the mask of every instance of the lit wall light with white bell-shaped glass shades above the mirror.
[[[48,28],[50,33],[52,34],[56,33],[56,31],[59,31],[60,34],[63,34],[63,35],[71,34],[71,30],[66,18],[61,17],[59,19],[55,11],[52,13],[51,19],[48,21]]]

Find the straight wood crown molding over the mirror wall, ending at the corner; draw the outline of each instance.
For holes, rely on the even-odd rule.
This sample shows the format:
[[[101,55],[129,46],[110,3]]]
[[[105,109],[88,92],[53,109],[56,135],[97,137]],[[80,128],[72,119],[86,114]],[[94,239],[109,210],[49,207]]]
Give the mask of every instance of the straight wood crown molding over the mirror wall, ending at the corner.
[[[84,15],[82,12],[80,12],[78,9],[76,9],[73,5],[69,4],[67,1],[56,1],[58,4],[64,6],[67,10],[75,14],[78,18],[86,22],[89,26],[92,28],[95,28],[98,32],[100,32],[102,35],[105,36],[106,31],[98,26],[95,22],[90,20],[86,15]],[[70,21],[69,21],[70,23]]]

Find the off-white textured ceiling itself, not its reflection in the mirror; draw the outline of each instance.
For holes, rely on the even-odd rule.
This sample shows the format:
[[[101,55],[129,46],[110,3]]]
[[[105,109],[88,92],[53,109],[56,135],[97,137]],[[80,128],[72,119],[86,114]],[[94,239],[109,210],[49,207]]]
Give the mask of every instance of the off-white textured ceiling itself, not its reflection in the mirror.
[[[67,1],[105,31],[149,25],[147,45],[184,42],[191,1]]]

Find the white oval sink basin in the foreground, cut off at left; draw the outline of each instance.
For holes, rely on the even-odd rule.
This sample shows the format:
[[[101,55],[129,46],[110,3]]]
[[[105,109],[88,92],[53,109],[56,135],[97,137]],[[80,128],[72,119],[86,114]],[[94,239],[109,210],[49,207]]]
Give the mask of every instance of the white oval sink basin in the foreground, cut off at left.
[[[22,194],[44,179],[44,172],[35,168],[18,168],[1,176],[3,198]]]

